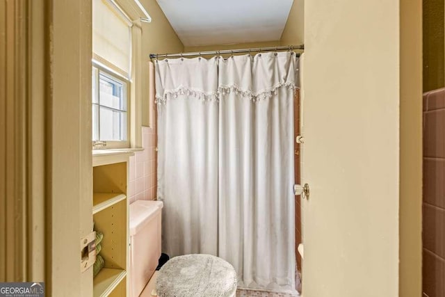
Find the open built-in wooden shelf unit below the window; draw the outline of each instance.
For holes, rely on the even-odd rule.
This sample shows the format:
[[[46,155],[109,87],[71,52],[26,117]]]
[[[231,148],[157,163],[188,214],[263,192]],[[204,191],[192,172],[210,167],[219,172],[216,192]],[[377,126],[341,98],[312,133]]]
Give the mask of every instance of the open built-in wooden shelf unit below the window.
[[[129,296],[128,167],[133,152],[95,152],[92,168],[92,219],[102,232],[105,267],[92,279],[92,296]]]

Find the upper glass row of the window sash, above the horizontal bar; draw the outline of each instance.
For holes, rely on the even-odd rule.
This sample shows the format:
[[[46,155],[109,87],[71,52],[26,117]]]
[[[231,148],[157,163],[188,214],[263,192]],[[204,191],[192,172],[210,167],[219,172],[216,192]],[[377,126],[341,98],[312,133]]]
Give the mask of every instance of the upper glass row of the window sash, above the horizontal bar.
[[[99,102],[102,106],[112,109],[126,110],[124,85],[104,74],[99,76]]]

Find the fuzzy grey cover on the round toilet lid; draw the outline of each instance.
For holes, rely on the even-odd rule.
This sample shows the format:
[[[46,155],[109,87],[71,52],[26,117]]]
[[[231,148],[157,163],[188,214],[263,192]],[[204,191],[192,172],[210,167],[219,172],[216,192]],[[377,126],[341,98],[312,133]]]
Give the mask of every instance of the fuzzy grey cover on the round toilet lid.
[[[236,294],[236,272],[223,259],[203,254],[174,257],[156,280],[160,297],[229,297]]]

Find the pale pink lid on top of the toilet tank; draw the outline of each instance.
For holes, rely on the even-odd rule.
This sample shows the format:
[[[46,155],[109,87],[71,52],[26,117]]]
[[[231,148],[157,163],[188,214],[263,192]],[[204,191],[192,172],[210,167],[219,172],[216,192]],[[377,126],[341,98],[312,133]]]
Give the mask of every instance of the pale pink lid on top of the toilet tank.
[[[161,214],[162,201],[137,200],[130,204],[129,225],[130,236],[136,234],[152,218]]]

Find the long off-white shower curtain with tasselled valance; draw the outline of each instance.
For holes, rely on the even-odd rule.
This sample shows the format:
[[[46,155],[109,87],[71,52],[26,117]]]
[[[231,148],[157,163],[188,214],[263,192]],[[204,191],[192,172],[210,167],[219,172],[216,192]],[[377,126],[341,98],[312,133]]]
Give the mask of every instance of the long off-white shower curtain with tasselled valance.
[[[293,52],[156,61],[163,251],[295,291]]]

